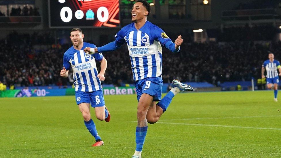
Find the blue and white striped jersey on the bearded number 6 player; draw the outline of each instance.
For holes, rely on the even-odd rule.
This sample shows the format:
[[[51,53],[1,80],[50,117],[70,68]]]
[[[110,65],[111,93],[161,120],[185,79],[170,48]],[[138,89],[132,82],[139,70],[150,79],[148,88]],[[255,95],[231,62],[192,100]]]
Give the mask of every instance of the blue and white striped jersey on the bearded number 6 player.
[[[83,51],[85,47],[96,48],[96,45],[84,42],[81,50],[70,47],[63,55],[63,66],[66,70],[69,70],[70,66],[73,69],[75,91],[101,90],[100,80],[96,77],[98,75],[96,60],[101,61],[103,56],[100,53],[86,55]]]

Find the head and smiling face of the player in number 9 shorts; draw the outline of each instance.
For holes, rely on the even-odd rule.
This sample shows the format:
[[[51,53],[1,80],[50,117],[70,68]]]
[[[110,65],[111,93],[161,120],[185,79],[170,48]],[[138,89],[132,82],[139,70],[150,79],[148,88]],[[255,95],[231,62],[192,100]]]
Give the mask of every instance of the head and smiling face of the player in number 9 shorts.
[[[148,15],[148,11],[143,6],[143,3],[136,2],[132,7],[132,22],[138,22],[143,18],[146,18]]]

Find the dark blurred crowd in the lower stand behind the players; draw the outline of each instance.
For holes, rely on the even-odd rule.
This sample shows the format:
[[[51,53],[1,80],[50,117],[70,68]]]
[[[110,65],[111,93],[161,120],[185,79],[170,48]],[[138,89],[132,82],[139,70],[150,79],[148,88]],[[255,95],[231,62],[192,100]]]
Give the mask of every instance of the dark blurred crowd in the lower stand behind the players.
[[[9,87],[72,85],[71,71],[68,78],[59,76],[62,56],[71,45],[52,45],[47,50],[36,50],[32,47],[31,37],[15,40],[19,36],[12,33],[5,41],[1,41],[0,81]],[[13,44],[13,40],[19,44]],[[48,43],[47,39],[43,41]],[[281,43],[185,42],[179,53],[174,54],[163,48],[162,78],[164,83],[179,79],[189,82],[207,81],[214,85],[225,81],[249,81],[252,76],[260,77],[261,64],[267,59],[268,50],[276,52],[278,59],[280,46]],[[122,86],[133,83],[125,44],[119,50],[104,53],[104,56],[108,61],[105,84]]]

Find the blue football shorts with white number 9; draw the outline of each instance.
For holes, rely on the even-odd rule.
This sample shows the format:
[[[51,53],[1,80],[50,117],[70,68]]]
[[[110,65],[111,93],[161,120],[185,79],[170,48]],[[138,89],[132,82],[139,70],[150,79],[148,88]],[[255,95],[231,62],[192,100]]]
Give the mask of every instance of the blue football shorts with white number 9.
[[[148,77],[145,79],[135,81],[137,99],[139,100],[140,96],[143,93],[146,93],[154,97],[154,102],[161,101],[162,86],[162,77]]]

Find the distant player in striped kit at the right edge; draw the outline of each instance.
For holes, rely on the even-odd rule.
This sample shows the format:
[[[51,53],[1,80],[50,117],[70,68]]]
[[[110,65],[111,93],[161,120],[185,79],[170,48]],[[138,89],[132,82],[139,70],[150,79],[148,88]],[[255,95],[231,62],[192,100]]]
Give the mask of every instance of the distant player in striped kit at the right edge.
[[[266,70],[266,84],[267,88],[270,90],[272,88],[272,84],[274,85],[274,101],[277,100],[277,93],[278,93],[278,83],[279,83],[279,76],[281,76],[281,66],[280,62],[278,60],[274,60],[274,54],[269,53],[268,54],[269,60],[265,60],[263,62],[262,68],[261,68],[261,78],[265,78],[264,71]]]

